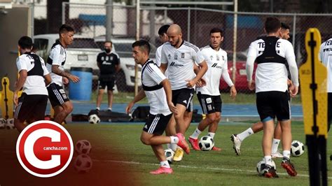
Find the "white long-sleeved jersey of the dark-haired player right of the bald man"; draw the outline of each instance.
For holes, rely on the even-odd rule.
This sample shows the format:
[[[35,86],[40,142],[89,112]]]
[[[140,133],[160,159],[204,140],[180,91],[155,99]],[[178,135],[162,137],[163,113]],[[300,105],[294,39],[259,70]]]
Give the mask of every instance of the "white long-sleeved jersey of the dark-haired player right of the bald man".
[[[221,48],[216,51],[210,45],[202,48],[201,53],[208,66],[207,72],[202,77],[206,81],[207,85],[204,87],[197,87],[196,91],[201,94],[219,96],[219,83],[221,75],[228,86],[234,85],[232,80],[230,80],[230,75],[228,74],[227,53]]]

